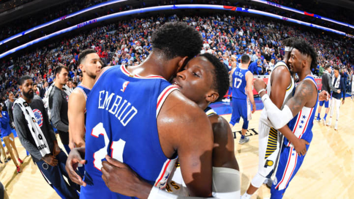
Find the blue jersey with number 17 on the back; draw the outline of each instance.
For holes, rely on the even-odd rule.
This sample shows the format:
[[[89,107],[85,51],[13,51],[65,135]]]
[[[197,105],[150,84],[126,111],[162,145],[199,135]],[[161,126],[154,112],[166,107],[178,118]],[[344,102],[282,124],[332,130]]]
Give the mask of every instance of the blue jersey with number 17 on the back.
[[[232,89],[232,97],[237,99],[247,99],[246,92],[246,73],[248,69],[241,69],[237,67],[232,75],[233,77],[233,89]]]

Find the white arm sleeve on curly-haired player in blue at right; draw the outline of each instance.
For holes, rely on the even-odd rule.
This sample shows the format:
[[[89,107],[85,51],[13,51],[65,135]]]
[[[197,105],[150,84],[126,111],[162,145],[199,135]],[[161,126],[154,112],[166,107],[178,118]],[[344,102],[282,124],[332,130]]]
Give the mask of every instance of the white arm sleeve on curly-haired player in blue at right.
[[[263,95],[262,101],[266,108],[267,117],[275,129],[282,128],[293,119],[293,113],[287,105],[282,110],[278,109],[267,94]]]

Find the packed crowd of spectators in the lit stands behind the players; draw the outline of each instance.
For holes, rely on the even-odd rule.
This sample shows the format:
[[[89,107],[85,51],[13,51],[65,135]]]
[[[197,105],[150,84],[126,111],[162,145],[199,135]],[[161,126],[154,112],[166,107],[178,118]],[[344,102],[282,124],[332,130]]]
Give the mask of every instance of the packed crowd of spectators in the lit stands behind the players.
[[[319,53],[319,66],[330,61],[353,71],[354,52],[349,51],[352,43],[348,40],[335,41],[321,32],[306,31],[292,24],[272,22],[250,17],[213,15],[159,16],[144,19],[119,21],[117,24],[92,28],[71,38],[43,46],[22,55],[1,60],[0,96],[6,99],[9,91],[18,92],[18,79],[30,75],[37,84],[38,93],[43,85],[51,84],[54,68],[59,63],[68,66],[71,85],[81,82],[77,59],[80,51],[94,49],[105,65],[136,65],[144,61],[151,51],[151,33],[165,22],[183,21],[197,28],[203,38],[201,53],[208,52],[219,57],[226,67],[238,65],[239,57],[251,57],[250,70],[254,74],[268,74],[274,64],[282,59],[281,41],[290,36],[303,37],[314,45]],[[9,68],[10,67],[10,68]],[[313,73],[320,71],[313,68]]]

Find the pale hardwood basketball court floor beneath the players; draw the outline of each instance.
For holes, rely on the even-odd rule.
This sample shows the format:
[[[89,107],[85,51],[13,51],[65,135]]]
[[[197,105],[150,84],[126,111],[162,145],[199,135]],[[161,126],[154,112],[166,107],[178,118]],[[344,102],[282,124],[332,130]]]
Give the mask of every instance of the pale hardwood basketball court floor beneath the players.
[[[250,141],[238,144],[240,134],[236,132],[235,152],[241,175],[241,194],[249,186],[258,167],[258,121],[261,111],[252,115],[247,135]],[[317,115],[317,110],[316,110]],[[322,115],[324,115],[324,109]],[[231,114],[223,115],[228,121]],[[329,115],[327,116],[329,118]],[[305,160],[285,193],[284,199],[350,199],[354,197],[354,101],[347,97],[341,105],[338,130],[315,121],[313,140]],[[236,124],[233,131],[240,131],[241,124]],[[59,136],[57,137],[59,140]],[[6,188],[10,199],[59,199],[57,193],[44,180],[39,169],[15,138],[20,158],[24,163],[21,173],[16,172],[12,160],[0,164],[0,181]],[[61,142],[59,146],[61,148]],[[251,199],[270,198],[270,190],[262,185]]]

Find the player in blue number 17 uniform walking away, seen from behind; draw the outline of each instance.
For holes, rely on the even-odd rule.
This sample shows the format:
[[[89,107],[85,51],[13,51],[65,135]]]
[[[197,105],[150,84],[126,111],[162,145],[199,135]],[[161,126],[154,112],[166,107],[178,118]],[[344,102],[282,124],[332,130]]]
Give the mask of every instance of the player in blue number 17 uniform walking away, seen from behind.
[[[234,127],[235,123],[239,122],[242,117],[242,135],[238,143],[243,144],[249,141],[249,138],[245,137],[248,129],[248,121],[251,119],[251,106],[252,103],[252,114],[256,111],[256,103],[253,98],[252,91],[252,81],[253,74],[248,70],[248,64],[250,62],[250,57],[248,55],[243,55],[241,57],[241,65],[235,68],[232,72],[232,107],[233,111],[231,114],[230,127]]]

